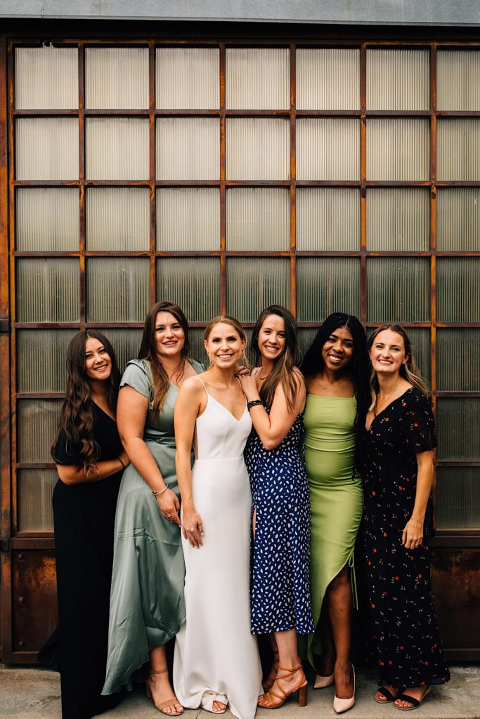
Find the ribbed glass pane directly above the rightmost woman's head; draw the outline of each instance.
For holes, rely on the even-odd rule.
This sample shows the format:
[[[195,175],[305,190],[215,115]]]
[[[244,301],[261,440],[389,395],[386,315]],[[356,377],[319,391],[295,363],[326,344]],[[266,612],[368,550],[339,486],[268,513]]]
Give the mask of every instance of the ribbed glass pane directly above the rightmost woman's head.
[[[367,319],[370,322],[430,320],[428,257],[368,258]]]

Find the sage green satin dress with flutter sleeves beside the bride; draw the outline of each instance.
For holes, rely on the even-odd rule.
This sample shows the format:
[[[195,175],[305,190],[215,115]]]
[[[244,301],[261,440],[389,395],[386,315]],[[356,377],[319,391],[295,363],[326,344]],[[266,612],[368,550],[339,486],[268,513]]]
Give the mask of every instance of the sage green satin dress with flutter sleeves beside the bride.
[[[189,360],[194,370],[204,366]],[[166,485],[179,496],[173,410],[178,388],[170,385],[163,411],[153,413],[153,380],[144,359],[128,363],[120,387],[148,397],[143,439]],[[192,454],[192,464],[193,464]],[[132,688],[132,674],[149,661],[150,649],[166,644],[185,621],[184,554],[180,529],[160,513],[152,490],[133,464],[120,485],[114,533],[107,678],[102,694]],[[95,608],[91,607],[91,611]]]

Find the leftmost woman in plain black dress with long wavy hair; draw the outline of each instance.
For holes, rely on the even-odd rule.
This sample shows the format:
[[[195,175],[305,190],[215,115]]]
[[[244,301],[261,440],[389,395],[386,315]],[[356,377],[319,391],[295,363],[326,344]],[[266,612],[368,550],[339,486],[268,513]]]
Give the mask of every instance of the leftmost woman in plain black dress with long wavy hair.
[[[128,464],[117,432],[119,370],[101,332],[78,332],[68,347],[67,386],[52,447],[59,665],[63,719],[112,708],[101,697],[107,664],[115,507]]]

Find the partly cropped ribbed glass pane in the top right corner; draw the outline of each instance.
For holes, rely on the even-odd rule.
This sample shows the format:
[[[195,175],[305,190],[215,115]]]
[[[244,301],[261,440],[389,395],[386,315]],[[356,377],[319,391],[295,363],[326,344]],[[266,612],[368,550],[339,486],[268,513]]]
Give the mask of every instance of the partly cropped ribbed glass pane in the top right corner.
[[[437,52],[437,108],[439,110],[480,110],[480,51]]]

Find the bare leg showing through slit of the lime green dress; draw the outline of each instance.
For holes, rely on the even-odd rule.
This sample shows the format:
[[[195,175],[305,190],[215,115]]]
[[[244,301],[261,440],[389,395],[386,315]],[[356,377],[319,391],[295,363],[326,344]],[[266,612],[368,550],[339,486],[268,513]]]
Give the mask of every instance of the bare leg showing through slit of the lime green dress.
[[[353,602],[350,572],[346,564],[328,585],[325,598],[337,654],[334,667],[335,694],[339,699],[349,699],[353,696],[353,670],[350,656]]]

